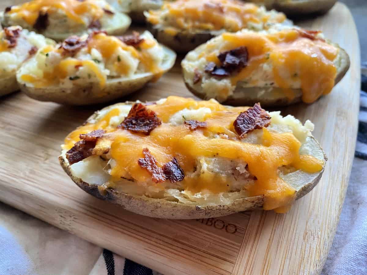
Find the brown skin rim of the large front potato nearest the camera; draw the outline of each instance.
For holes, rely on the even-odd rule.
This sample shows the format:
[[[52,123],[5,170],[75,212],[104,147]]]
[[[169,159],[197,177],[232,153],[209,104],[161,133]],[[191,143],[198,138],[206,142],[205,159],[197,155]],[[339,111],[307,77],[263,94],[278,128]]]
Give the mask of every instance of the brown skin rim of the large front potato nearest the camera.
[[[132,104],[134,102],[117,103],[104,109],[113,108],[113,106],[119,104]],[[103,110],[103,109],[102,109]],[[98,111],[91,115],[86,122],[93,121],[98,115]],[[320,144],[312,137],[310,139],[310,146],[318,147],[321,151]],[[323,152],[323,151],[322,151]],[[325,163],[327,161],[326,155],[323,152]],[[112,188],[106,188],[99,190],[98,185],[88,184],[82,179],[74,176],[70,169],[70,165],[63,155],[59,156],[59,162],[68,176],[79,186],[82,190],[86,191],[94,197],[108,201],[110,203],[119,205],[124,209],[141,214],[144,216],[162,218],[162,219],[206,219],[210,217],[220,217],[229,214],[252,211],[262,209],[265,197],[259,195],[255,197],[246,197],[235,199],[228,205],[212,205],[206,207],[200,207],[195,205],[186,205],[184,203],[166,201],[164,199],[148,198],[144,196],[129,195],[123,192],[118,192]],[[296,199],[299,199],[311,191],[316,184],[320,181],[324,168],[316,174],[315,177],[309,182],[302,183],[296,190]]]

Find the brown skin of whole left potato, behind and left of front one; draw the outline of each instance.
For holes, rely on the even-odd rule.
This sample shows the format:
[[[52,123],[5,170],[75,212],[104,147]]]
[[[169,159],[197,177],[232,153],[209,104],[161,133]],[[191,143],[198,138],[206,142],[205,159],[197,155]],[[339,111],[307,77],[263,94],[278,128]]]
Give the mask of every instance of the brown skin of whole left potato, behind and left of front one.
[[[166,47],[164,47],[164,51],[170,58],[167,64],[164,64],[164,71],[167,72],[174,65],[176,55]],[[103,88],[100,88],[96,83],[76,84],[71,89],[58,86],[35,88],[21,82],[19,82],[19,87],[26,95],[36,100],[81,106],[108,102],[131,94],[144,87],[153,77],[153,74],[145,73],[130,79],[108,79]]]

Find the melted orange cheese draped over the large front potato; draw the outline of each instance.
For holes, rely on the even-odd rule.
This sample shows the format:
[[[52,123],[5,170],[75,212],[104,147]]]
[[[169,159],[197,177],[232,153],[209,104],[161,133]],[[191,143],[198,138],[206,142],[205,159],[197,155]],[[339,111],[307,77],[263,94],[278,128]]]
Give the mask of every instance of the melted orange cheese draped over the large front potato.
[[[280,166],[291,165],[309,173],[319,172],[323,168],[322,160],[310,155],[299,155],[301,143],[289,132],[277,133],[263,128],[262,144],[240,142],[233,129],[233,121],[248,107],[227,108],[217,102],[195,101],[176,96],[168,97],[163,104],[147,107],[155,111],[162,120],[162,124],[148,136],[109,126],[110,118],[119,114],[119,109],[115,108],[99,118],[95,124],[87,123],[70,133],[65,139],[63,149],[72,148],[81,133],[105,129],[108,137],[98,140],[95,150],[104,146],[106,139],[111,144],[110,155],[117,164],[111,171],[108,183],[111,187],[120,177],[132,177],[138,182],[150,180],[148,171],[138,165],[138,159],[143,157],[143,148],[149,149],[159,166],[176,157],[185,175],[193,172],[196,159],[200,157],[215,155],[241,159],[248,164],[249,172],[257,178],[255,184],[248,189],[249,195],[265,195],[264,209],[275,209],[278,212],[286,211],[295,197],[295,190],[278,176],[277,169]],[[168,123],[170,117],[179,110],[200,107],[207,107],[212,111],[204,117],[206,128],[191,131],[184,124],[174,126]],[[226,133],[228,139],[213,138],[218,133]],[[159,184],[155,185],[159,187]],[[225,177],[210,172],[201,174],[199,179],[185,177],[182,185],[185,190],[192,192],[229,191]]]

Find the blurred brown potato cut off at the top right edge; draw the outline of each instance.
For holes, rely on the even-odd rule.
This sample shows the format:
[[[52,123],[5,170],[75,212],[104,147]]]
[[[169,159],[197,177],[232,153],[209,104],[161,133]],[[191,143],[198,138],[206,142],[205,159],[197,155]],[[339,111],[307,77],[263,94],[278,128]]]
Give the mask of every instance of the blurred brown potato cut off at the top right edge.
[[[268,9],[275,9],[294,17],[307,14],[324,14],[330,10],[337,0],[251,0]]]

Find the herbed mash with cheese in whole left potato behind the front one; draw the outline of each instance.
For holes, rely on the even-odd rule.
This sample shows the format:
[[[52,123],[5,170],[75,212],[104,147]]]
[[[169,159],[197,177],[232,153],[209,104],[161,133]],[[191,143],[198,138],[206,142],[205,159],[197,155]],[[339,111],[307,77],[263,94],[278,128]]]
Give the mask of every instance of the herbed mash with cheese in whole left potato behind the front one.
[[[164,50],[148,31],[140,38],[142,42],[133,47],[105,33],[84,36],[81,40],[87,43],[75,55],[65,55],[59,45],[43,47],[22,67],[20,79],[36,88],[70,88],[76,83],[98,83],[104,87],[109,79],[144,73],[153,74],[153,81],[158,80],[163,74],[160,64]]]

